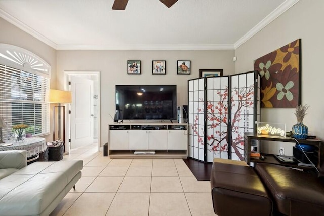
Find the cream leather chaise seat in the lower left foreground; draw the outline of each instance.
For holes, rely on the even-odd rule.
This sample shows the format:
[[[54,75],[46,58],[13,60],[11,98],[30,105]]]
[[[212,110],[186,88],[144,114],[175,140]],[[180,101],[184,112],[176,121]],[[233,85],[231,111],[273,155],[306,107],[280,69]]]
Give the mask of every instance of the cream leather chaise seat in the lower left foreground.
[[[41,214],[67,193],[70,188],[66,187],[80,175],[82,165],[83,161],[34,162],[1,179],[1,211],[6,215]]]

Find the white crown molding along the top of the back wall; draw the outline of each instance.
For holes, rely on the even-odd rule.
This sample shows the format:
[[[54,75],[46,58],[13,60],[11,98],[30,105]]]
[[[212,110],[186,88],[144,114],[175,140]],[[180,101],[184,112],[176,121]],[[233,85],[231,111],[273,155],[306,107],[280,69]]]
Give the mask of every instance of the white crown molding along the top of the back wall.
[[[57,50],[233,50],[233,44],[58,45]]]

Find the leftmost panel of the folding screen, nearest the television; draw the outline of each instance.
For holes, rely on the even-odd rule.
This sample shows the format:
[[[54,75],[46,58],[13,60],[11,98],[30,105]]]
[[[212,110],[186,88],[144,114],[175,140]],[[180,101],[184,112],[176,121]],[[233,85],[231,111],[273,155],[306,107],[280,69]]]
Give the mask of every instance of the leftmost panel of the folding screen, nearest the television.
[[[188,81],[189,157],[205,162],[205,79]]]

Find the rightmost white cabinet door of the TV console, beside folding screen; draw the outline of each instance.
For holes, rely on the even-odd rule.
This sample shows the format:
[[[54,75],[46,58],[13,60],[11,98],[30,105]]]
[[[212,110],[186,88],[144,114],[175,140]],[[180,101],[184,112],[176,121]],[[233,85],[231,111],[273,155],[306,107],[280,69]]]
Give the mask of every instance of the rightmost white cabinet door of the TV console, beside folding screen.
[[[168,130],[168,149],[187,150],[188,131],[187,130]]]

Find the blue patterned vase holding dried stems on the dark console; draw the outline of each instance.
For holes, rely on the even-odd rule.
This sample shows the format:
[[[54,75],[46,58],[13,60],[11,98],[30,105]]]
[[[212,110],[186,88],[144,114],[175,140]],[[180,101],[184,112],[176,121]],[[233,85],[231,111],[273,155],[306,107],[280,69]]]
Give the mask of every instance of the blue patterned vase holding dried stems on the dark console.
[[[306,116],[306,111],[309,108],[307,105],[299,105],[296,106],[296,118],[297,118],[297,123],[293,125],[292,133],[293,137],[296,139],[306,139],[308,135],[308,127],[304,125],[303,120],[304,117]]]

